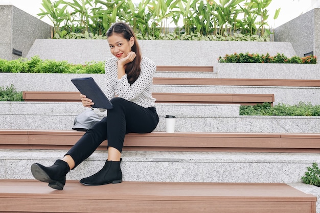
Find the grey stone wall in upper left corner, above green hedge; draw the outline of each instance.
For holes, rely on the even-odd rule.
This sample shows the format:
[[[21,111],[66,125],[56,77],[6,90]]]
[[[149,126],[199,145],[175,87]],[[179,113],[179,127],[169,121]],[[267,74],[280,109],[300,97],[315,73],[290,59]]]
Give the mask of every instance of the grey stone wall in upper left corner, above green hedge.
[[[50,38],[50,25],[14,7],[0,5],[0,58],[18,59],[12,50],[26,57],[36,38]]]

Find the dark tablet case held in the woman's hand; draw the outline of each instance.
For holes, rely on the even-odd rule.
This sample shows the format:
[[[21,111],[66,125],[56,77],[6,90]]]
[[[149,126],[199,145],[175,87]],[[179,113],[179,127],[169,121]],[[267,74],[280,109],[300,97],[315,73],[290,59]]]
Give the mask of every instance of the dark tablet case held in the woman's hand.
[[[81,94],[84,94],[88,99],[91,99],[95,104],[91,107],[112,109],[113,105],[105,96],[101,88],[92,77],[73,78],[72,83],[77,87]]]

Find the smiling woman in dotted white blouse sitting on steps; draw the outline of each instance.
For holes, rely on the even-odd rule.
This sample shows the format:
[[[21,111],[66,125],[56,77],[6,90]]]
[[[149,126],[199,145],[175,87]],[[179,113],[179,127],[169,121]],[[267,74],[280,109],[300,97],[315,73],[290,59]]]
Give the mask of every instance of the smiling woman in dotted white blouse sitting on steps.
[[[63,190],[66,174],[88,158],[104,140],[108,140],[108,158],[96,174],[83,178],[84,185],[103,185],[122,182],[120,168],[125,134],[152,132],[159,117],[151,95],[155,64],[143,57],[132,29],[123,22],[113,24],[107,31],[110,51],[113,56],[105,63],[105,93],[113,108],[92,129],[51,167],[39,163],[31,165],[35,179],[48,182],[56,190]],[[81,94],[82,105],[94,103]]]

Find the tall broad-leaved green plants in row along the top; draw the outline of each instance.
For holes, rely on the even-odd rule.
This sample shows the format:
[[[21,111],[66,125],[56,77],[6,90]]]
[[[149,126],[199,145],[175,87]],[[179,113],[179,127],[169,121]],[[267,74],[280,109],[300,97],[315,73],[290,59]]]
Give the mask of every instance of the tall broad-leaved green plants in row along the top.
[[[38,16],[48,16],[52,21],[52,38],[105,38],[112,23],[125,21],[143,39],[162,39],[160,35],[169,33],[171,21],[180,40],[268,41],[271,33],[267,29],[266,8],[270,3],[271,0],[141,0],[139,4],[131,0],[42,0]],[[279,12],[280,9],[274,19]],[[180,23],[182,26],[178,26]],[[187,36],[181,38],[181,34]]]

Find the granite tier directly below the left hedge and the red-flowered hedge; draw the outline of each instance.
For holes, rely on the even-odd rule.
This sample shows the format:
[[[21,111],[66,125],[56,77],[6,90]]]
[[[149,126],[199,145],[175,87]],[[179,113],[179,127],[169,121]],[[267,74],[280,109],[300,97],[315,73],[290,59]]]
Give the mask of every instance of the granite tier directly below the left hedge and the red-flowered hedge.
[[[214,72],[159,72],[155,78],[213,78],[213,79],[320,79],[319,64],[254,64],[218,63]],[[72,78],[93,77],[104,87],[104,74],[35,74],[0,73],[0,86],[13,84],[17,90],[26,91],[77,91]]]

